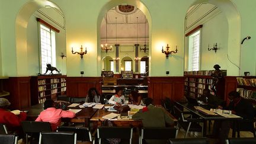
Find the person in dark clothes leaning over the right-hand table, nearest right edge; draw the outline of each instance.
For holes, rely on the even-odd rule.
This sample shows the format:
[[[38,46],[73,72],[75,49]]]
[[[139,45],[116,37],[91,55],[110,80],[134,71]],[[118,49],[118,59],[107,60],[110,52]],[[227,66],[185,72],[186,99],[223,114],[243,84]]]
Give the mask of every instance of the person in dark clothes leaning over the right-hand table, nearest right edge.
[[[243,119],[254,119],[254,108],[249,101],[240,97],[239,92],[231,91],[228,94],[230,103],[227,107],[223,108],[225,110],[231,110],[232,114],[242,117]],[[232,126],[232,121],[215,121],[213,124],[213,136],[219,138],[219,143],[225,143],[225,139],[228,138],[229,129]]]

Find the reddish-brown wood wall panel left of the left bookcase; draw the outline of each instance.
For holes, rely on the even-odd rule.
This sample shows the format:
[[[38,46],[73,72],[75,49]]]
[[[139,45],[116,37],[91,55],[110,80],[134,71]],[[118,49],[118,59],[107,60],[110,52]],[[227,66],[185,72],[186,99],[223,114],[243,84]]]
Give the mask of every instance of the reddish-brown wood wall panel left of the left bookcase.
[[[5,83],[4,89],[10,93],[7,98],[11,103],[11,110],[30,107],[30,76],[9,77]]]

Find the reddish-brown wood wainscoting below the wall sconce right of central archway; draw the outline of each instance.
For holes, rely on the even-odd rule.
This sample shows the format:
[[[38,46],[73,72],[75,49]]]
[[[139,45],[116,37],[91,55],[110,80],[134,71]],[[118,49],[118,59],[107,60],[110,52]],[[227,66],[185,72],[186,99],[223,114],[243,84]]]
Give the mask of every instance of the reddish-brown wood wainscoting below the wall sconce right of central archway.
[[[181,100],[184,97],[183,76],[148,76],[148,97],[154,104],[161,104],[165,97],[172,101]]]

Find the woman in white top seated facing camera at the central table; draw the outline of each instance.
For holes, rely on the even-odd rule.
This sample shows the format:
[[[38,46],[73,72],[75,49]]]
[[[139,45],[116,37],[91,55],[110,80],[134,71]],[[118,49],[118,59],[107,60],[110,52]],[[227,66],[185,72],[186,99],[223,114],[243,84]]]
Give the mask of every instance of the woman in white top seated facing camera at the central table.
[[[126,104],[126,99],[124,95],[122,95],[123,89],[116,88],[116,94],[113,95],[110,100],[108,100],[108,103],[110,104]]]

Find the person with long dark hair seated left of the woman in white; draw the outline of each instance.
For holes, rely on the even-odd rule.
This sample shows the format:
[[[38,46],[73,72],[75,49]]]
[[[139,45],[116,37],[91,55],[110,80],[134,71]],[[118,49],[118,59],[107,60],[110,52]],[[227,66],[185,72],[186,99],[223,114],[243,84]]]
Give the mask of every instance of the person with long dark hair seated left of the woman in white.
[[[103,98],[100,96],[96,88],[90,88],[85,98],[85,103],[101,103],[103,104]]]

